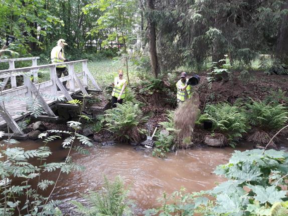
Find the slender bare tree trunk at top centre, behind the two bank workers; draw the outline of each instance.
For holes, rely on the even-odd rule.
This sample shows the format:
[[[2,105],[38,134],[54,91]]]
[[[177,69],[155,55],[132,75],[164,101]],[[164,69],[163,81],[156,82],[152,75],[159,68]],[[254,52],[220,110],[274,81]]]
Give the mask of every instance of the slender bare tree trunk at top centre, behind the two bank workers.
[[[154,1],[147,0],[148,10],[152,11],[155,9]],[[157,49],[156,49],[156,30],[155,30],[155,21],[151,15],[148,15],[148,39],[149,39],[149,53],[150,53],[150,63],[152,67],[152,73],[155,78],[157,78],[160,68],[157,58]]]

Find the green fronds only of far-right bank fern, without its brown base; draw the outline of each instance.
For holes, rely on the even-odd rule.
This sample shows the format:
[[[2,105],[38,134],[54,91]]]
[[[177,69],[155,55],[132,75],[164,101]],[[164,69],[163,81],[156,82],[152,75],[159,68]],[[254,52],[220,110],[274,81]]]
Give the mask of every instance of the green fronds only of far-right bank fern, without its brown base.
[[[270,132],[282,128],[287,119],[288,112],[282,104],[257,102],[252,100],[247,104],[247,119],[258,130]]]

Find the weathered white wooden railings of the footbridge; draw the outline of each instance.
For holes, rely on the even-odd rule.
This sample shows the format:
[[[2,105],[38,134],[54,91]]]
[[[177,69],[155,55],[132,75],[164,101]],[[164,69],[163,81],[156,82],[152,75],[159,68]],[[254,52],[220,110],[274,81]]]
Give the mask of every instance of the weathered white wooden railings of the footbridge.
[[[11,62],[10,63],[11,67],[8,70],[0,71],[0,79],[2,78],[4,80],[8,80],[9,78],[11,78],[11,83],[13,82],[11,89],[6,89],[6,90],[1,91],[2,96],[21,96],[24,94],[28,98],[32,98],[33,96],[36,96],[36,98],[41,103],[42,108],[47,113],[47,115],[51,117],[55,117],[55,114],[53,113],[53,111],[51,110],[49,106],[51,103],[54,103],[55,101],[48,101],[48,102],[45,101],[43,95],[39,93],[40,90],[51,88],[51,92],[49,92],[49,94],[57,97],[58,96],[57,94],[59,94],[57,91],[57,88],[59,88],[61,90],[61,94],[63,94],[64,97],[68,101],[72,100],[71,94],[73,94],[76,91],[77,92],[81,91],[83,95],[88,94],[86,91],[86,87],[88,87],[88,80],[92,82],[92,85],[94,86],[95,90],[97,91],[101,90],[97,82],[95,81],[94,77],[88,70],[88,67],[87,67],[88,60],[79,60],[79,61],[50,64],[50,65],[41,65],[41,66],[32,66],[32,67],[25,67],[25,68],[13,67],[15,61],[23,61],[23,60],[33,61],[34,60],[34,62],[36,61],[36,64],[37,64],[37,59],[39,59],[39,57],[33,57],[33,58],[24,58],[21,60],[20,59],[0,60],[0,63]],[[74,70],[74,65],[77,63],[82,63],[82,72],[80,73],[76,73]],[[57,65],[66,65],[66,67],[68,67],[68,73],[69,73],[68,76],[58,78],[56,75]],[[49,69],[50,80],[46,82],[38,83],[38,71],[41,69]],[[34,78],[34,82],[31,81],[32,75]],[[24,78],[23,85],[17,86],[17,83],[16,83],[17,76],[23,76]],[[79,77],[82,77],[82,82],[79,79]],[[64,85],[62,84],[63,81],[69,82],[69,87],[70,87],[69,91],[65,89]],[[77,89],[76,89],[76,85],[78,86]],[[28,107],[28,104],[26,103],[25,111],[27,111],[27,107]],[[5,111],[4,106],[2,104],[0,104],[0,114],[14,132],[23,134],[22,130],[18,127],[16,121],[14,120],[13,116],[10,115],[9,112]]]

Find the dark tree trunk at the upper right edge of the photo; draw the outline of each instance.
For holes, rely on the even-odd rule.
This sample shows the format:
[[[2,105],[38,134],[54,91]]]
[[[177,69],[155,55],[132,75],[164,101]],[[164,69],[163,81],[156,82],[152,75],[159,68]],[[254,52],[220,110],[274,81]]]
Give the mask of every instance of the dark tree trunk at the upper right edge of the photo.
[[[282,10],[288,9],[288,2],[282,6]],[[288,65],[288,15],[284,15],[278,32],[276,58]]]

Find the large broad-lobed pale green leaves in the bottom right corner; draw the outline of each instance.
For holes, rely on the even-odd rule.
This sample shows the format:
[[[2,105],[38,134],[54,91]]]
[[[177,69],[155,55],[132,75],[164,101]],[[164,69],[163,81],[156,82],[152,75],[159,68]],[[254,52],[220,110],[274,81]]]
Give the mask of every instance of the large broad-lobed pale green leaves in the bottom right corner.
[[[212,208],[228,215],[271,215],[271,206],[288,197],[288,153],[259,149],[235,151],[229,162],[215,170],[229,180],[216,186],[209,193],[216,197]]]

